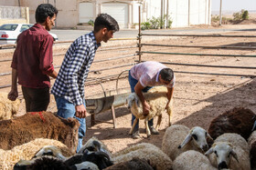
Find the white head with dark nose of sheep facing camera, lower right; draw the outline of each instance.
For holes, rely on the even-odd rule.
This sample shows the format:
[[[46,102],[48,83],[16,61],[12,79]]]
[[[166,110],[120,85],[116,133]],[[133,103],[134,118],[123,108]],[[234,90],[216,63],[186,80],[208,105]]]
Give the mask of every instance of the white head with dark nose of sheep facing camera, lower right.
[[[237,162],[239,162],[238,155],[233,149],[233,145],[227,142],[214,143],[205,155],[214,153],[217,158],[219,169],[229,168],[230,155],[232,155]]]

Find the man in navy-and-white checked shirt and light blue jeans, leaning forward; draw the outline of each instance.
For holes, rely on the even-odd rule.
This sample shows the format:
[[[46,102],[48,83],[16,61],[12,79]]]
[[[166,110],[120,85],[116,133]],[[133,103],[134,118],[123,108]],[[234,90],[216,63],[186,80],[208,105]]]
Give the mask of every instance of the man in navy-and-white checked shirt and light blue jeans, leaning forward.
[[[94,30],[81,35],[69,46],[51,90],[57,103],[58,115],[64,118],[75,117],[80,122],[77,152],[86,131],[84,83],[101,41],[107,43],[116,31],[119,31],[119,25],[111,15],[98,15]]]

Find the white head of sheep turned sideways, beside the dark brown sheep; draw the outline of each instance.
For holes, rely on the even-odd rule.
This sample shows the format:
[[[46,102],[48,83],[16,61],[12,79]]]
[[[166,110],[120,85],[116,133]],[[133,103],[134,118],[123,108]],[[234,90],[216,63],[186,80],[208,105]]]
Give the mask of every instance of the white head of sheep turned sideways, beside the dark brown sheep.
[[[187,145],[187,143],[192,140],[193,144],[197,146],[197,148],[200,148],[202,151],[206,152],[208,150],[207,138],[212,139],[205,129],[199,126],[193,127],[189,131],[187,137],[184,139],[182,144],[178,146],[178,148],[182,148],[184,145]]]

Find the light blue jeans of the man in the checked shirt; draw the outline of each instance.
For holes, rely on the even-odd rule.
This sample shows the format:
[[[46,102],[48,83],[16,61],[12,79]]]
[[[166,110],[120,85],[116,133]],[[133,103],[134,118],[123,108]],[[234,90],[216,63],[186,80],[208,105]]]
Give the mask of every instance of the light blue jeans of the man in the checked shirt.
[[[58,108],[58,115],[60,117],[63,118],[76,118],[78,119],[78,121],[80,122],[80,127],[79,127],[79,144],[77,147],[77,152],[79,152],[80,147],[82,146],[82,139],[85,136],[85,132],[86,132],[86,122],[85,122],[85,118],[79,118],[76,117],[76,108],[75,105],[73,105],[72,103],[70,103],[68,100],[66,100],[64,97],[58,96],[58,95],[54,95],[55,97],[55,101],[57,104],[57,108]],[[85,101],[83,102],[83,105],[85,106]]]

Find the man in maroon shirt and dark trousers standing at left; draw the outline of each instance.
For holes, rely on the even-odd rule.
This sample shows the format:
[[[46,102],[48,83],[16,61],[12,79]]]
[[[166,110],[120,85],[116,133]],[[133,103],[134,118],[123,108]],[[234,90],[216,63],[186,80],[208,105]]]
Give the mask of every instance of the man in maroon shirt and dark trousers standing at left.
[[[49,4],[37,6],[36,22],[18,35],[12,62],[10,100],[16,100],[17,80],[21,85],[27,112],[46,111],[49,104],[49,76],[56,78],[52,65],[53,37],[48,31],[55,25],[58,10]]]

